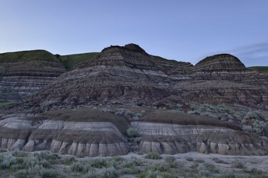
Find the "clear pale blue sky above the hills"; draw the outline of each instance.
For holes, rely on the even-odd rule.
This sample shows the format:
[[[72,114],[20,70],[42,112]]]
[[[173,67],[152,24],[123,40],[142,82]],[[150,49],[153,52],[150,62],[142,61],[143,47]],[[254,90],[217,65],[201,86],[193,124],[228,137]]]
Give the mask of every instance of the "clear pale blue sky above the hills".
[[[190,62],[230,53],[268,66],[267,0],[0,0],[0,53],[98,52],[135,43]]]

